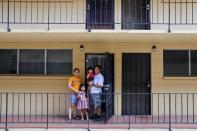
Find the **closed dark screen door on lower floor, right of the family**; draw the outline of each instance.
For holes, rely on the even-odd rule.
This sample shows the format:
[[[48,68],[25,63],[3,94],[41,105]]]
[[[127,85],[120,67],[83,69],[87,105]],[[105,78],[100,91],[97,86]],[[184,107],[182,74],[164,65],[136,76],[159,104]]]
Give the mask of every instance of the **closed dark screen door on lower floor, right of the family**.
[[[124,53],[122,56],[122,114],[151,114],[151,55]]]

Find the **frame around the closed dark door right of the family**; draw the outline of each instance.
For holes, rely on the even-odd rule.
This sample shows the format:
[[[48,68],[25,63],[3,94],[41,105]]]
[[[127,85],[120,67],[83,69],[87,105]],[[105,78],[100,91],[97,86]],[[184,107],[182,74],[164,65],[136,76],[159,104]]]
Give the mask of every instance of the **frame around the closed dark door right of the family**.
[[[122,76],[121,76],[121,85],[122,85],[122,89],[121,89],[121,92],[123,92],[123,54],[125,54],[125,53],[127,53],[127,54],[149,54],[150,55],[150,81],[151,81],[151,87],[150,87],[150,114],[148,114],[148,115],[152,115],[153,114],[153,109],[152,109],[152,104],[153,104],[153,98],[152,98],[152,55],[151,55],[151,53],[150,52],[122,52],[121,53],[121,59],[122,59],[122,62],[121,62],[121,68],[122,68],[122,70],[121,70],[121,74],[122,74]],[[123,115],[123,95],[122,95],[122,97],[121,97],[121,115]],[[147,115],[147,116],[148,116]],[[135,116],[140,116],[140,115],[135,115]]]

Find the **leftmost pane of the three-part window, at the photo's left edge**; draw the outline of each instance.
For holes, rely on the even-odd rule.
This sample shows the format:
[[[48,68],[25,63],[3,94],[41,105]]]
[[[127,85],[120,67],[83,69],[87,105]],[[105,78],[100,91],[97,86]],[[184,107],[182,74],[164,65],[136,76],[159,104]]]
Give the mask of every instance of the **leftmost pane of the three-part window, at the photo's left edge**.
[[[17,73],[17,50],[0,49],[0,74]]]

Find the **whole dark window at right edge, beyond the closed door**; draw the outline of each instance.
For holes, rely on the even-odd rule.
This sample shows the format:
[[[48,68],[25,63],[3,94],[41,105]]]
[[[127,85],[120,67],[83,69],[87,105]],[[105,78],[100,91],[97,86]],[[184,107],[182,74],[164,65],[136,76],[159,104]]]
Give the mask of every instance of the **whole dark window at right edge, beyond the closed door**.
[[[164,50],[164,76],[197,76],[197,50]]]

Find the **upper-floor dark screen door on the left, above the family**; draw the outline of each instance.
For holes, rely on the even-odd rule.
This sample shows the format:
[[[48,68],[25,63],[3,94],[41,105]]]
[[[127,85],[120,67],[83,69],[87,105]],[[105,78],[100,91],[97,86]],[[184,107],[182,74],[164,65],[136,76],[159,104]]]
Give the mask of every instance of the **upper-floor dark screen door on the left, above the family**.
[[[91,29],[114,28],[114,0],[87,0]]]

